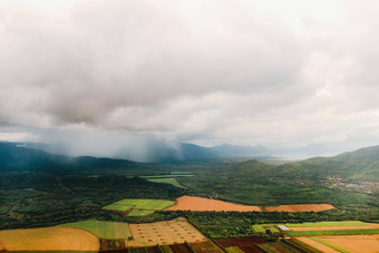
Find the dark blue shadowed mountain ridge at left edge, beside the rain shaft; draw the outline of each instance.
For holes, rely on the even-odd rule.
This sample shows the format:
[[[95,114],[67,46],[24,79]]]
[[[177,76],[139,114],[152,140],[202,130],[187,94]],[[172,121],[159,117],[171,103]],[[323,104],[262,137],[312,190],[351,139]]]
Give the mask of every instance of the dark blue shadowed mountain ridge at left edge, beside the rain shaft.
[[[0,172],[100,173],[149,167],[147,164],[125,159],[68,157],[26,148],[14,143],[0,143]]]

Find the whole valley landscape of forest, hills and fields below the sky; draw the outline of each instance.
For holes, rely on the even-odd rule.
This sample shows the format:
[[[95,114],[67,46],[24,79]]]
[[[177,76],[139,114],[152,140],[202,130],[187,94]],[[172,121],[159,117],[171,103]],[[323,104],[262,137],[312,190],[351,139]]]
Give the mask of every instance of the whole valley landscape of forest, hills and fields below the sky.
[[[66,237],[64,227],[84,231],[96,236],[97,245],[66,250],[89,252],[362,252],[343,250],[343,236],[368,240],[362,249],[372,250],[372,234],[379,233],[372,148],[369,157],[365,152],[348,156],[354,167],[341,156],[281,165],[216,159],[139,164],[68,159],[23,147],[6,152],[8,164],[2,160],[0,172],[4,252],[42,250],[9,241],[18,230],[25,231],[23,241],[37,243],[42,242],[39,233]],[[20,164],[26,155],[28,164]],[[62,249],[46,245],[51,245],[48,251]]]

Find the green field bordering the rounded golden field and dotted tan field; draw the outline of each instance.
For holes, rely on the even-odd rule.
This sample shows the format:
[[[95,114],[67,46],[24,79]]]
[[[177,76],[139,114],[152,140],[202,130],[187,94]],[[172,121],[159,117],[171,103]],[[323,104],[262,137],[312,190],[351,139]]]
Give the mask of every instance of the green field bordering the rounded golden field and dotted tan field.
[[[129,225],[123,222],[100,222],[88,220],[84,222],[66,223],[59,226],[88,231],[99,239],[127,239],[132,236]]]

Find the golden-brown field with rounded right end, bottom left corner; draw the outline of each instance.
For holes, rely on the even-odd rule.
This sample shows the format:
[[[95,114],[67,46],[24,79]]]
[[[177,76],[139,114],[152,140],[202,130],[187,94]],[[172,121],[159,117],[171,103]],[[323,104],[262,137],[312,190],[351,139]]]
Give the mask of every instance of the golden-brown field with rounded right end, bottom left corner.
[[[98,251],[100,249],[100,242],[94,234],[60,226],[0,231],[1,244],[7,251]]]

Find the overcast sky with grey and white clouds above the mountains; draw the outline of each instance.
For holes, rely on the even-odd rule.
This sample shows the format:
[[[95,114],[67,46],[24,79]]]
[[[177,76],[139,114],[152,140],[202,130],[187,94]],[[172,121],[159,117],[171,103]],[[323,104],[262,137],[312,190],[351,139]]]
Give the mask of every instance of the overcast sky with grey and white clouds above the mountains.
[[[0,139],[379,145],[379,1],[0,0]]]

